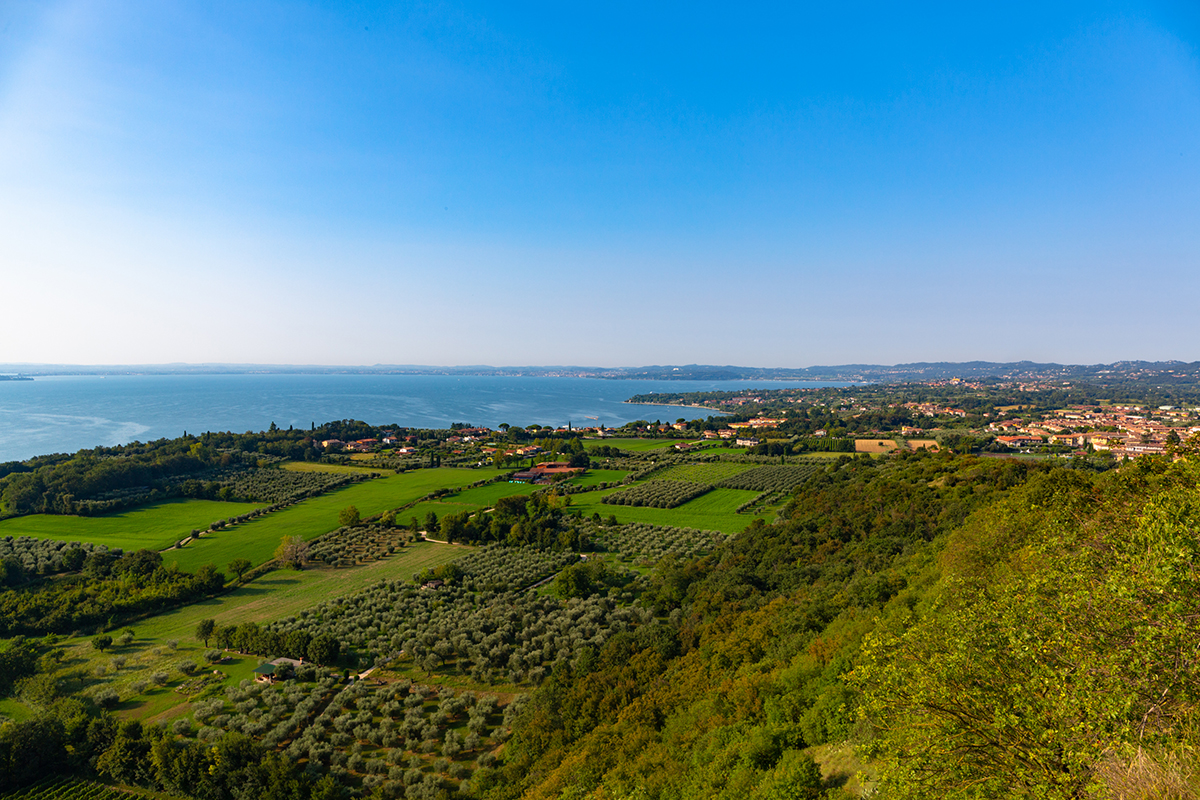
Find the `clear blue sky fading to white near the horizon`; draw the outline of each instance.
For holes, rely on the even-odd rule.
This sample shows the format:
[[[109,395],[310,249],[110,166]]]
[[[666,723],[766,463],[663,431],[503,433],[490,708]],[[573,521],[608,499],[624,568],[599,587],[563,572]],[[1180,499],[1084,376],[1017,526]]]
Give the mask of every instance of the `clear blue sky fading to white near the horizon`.
[[[1194,2],[0,2],[0,362],[1200,360]]]

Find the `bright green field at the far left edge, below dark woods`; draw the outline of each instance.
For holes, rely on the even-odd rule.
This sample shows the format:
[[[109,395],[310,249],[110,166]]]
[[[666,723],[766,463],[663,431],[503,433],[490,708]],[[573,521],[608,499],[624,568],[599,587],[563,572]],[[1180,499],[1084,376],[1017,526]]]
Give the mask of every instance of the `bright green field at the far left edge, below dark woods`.
[[[92,542],[126,551],[161,551],[172,547],[193,529],[203,530],[217,519],[246,513],[259,505],[217,500],[163,500],[103,517],[38,513],[0,522],[0,536]]]

